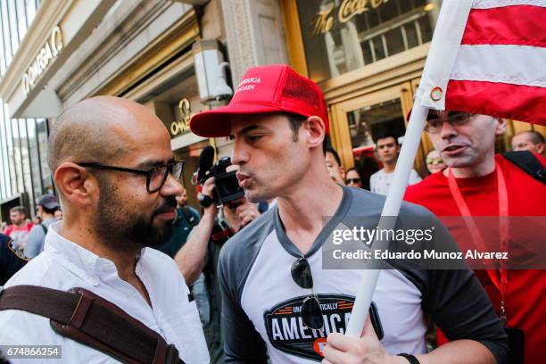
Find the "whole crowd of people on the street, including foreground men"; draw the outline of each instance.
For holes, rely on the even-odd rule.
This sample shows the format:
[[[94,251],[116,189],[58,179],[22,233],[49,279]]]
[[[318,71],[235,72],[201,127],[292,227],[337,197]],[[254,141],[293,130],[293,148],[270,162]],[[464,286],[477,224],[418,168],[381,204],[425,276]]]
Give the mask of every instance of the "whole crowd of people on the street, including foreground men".
[[[4,300],[20,285],[82,287],[127,314],[117,311],[120,320],[134,318],[159,333],[186,363],[542,360],[546,277],[539,269],[412,270],[394,263],[377,283],[374,323],[360,338],[344,336],[362,270],[323,269],[321,248],[339,224],[378,218],[400,136],[378,133],[379,163],[345,169],[326,145],[327,107],[315,83],[285,65],[247,70],[243,82],[253,87],[191,120],[196,135],[234,140],[228,170],[244,190],[244,197],[215,203],[215,178],[206,178],[201,211],[187,206],[178,183],[183,162],[173,159],[168,131],[144,106],[98,96],[63,112],[47,155],[60,202],[51,194],[37,199],[39,224],[21,207],[10,211],[12,225],[0,236],[7,249],[2,274],[11,277]],[[430,174],[411,171],[399,219],[426,219],[439,241],[455,245],[459,231],[438,218],[544,216],[544,137],[519,133],[512,149],[529,152],[495,153],[505,130],[506,120],[429,112]],[[537,173],[523,161],[535,161]],[[513,248],[513,236],[499,247]],[[117,338],[116,345],[116,338],[95,337],[73,324],[75,313],[65,323],[72,331],[60,333],[51,312],[6,308],[0,300],[0,343],[62,345],[66,362],[136,358],[123,350],[136,338]]]

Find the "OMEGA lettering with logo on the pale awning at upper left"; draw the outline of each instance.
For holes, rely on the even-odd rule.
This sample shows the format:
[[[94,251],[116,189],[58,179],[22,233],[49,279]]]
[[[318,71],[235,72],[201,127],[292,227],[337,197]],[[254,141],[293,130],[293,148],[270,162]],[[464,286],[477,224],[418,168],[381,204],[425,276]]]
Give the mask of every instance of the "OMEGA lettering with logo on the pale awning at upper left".
[[[45,45],[38,51],[36,58],[30,63],[29,69],[23,74],[21,83],[25,95],[29,95],[30,90],[36,85],[37,79],[44,73],[47,66],[61,52],[62,30],[56,26],[51,31],[51,37],[45,42]]]

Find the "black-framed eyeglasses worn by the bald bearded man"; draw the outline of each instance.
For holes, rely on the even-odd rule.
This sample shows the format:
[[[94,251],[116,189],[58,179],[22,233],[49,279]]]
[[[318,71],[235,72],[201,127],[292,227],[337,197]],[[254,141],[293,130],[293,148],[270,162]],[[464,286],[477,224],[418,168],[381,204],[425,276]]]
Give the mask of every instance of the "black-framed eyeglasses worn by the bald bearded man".
[[[136,170],[133,168],[107,166],[92,162],[77,164],[81,167],[94,168],[97,170],[118,170],[120,172],[144,175],[146,176],[146,190],[151,194],[161,190],[161,187],[165,184],[169,173],[178,181],[180,176],[182,176],[182,170],[184,169],[184,161],[170,161],[167,164],[152,167],[150,170]]]

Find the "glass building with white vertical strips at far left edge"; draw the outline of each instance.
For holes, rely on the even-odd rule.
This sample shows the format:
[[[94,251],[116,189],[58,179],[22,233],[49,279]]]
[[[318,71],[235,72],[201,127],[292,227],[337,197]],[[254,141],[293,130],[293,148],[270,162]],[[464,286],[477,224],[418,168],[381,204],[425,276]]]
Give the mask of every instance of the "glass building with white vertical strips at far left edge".
[[[19,48],[40,6],[39,0],[0,2],[0,79],[17,62]],[[54,192],[45,163],[48,120],[11,118],[9,106],[0,98],[0,218],[9,209],[23,205],[27,216],[34,211],[37,195]]]

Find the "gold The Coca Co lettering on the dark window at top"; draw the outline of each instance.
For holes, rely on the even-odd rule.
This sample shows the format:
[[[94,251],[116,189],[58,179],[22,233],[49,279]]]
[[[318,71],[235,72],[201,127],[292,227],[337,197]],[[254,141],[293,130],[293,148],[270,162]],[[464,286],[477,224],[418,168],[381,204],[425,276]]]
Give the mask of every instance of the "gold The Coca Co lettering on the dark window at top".
[[[337,20],[340,23],[350,21],[354,16],[362,12],[368,12],[370,9],[376,9],[389,0],[343,0],[337,12]],[[325,10],[316,12],[310,20],[313,26],[313,36],[327,33],[334,27],[334,16],[331,12],[334,10],[334,3],[327,6]]]

